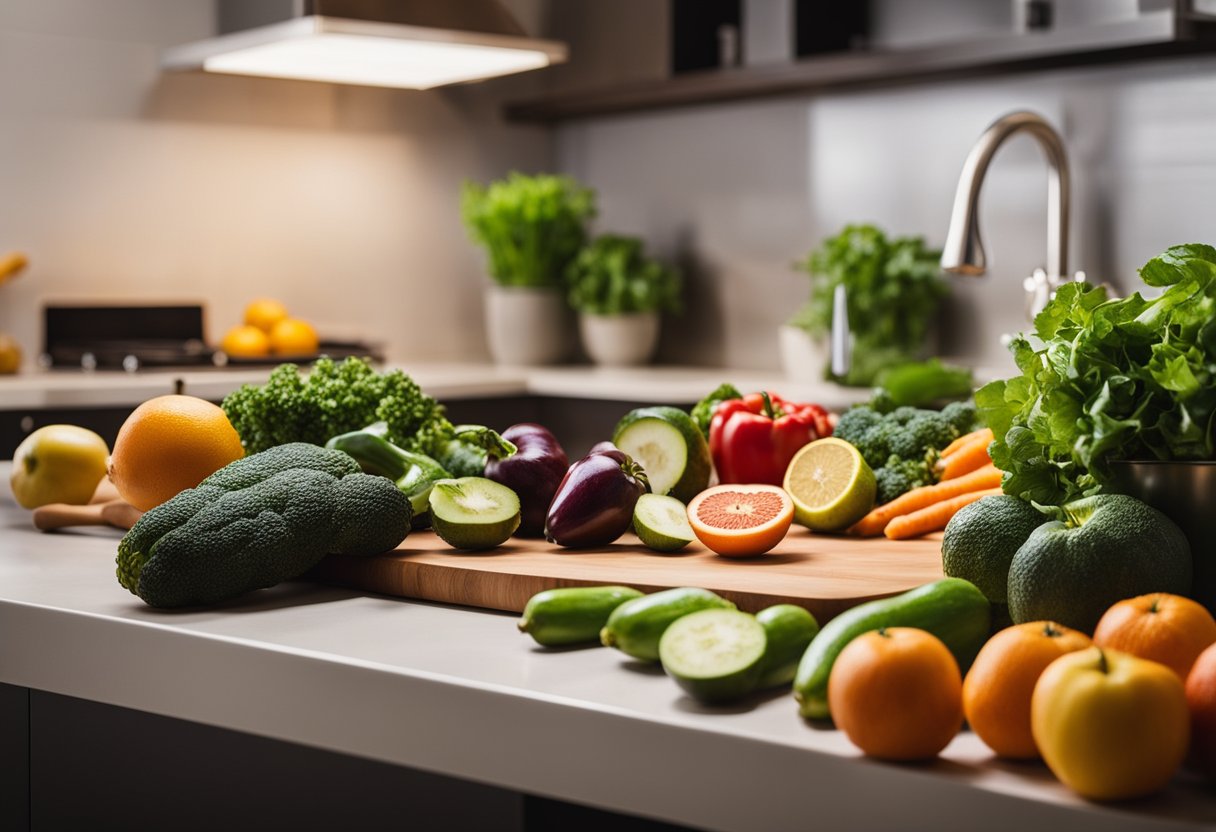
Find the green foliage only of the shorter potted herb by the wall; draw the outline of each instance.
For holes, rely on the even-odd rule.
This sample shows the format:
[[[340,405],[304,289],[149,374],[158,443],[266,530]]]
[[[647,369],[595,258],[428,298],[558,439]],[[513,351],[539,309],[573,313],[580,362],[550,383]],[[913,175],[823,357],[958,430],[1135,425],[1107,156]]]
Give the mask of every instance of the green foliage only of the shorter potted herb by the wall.
[[[642,241],[606,234],[565,270],[570,305],[592,315],[680,311],[680,272],[646,257]]]

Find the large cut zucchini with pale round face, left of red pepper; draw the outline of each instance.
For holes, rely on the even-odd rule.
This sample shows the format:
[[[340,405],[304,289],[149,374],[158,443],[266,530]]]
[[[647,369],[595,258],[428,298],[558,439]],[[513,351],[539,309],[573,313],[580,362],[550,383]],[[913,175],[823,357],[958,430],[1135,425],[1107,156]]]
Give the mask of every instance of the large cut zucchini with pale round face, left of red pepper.
[[[638,407],[617,423],[613,444],[641,462],[651,491],[688,502],[709,485],[709,445],[679,407]]]

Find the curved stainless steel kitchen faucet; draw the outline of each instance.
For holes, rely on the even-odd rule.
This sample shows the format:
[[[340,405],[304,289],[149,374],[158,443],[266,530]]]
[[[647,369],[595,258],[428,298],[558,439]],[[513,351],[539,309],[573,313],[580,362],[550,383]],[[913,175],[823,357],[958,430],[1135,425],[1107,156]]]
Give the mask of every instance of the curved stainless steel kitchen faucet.
[[[1047,157],[1047,270],[1036,269],[1024,281],[1028,292],[1028,313],[1031,319],[1042,311],[1052,293],[1070,280],[1068,272],[1068,212],[1069,176],[1068,152],[1064,140],[1047,120],[1031,112],[1015,112],[993,122],[979,137],[963,164],[955,192],[955,209],[950,215],[950,231],[942,247],[941,268],[956,275],[979,276],[987,270],[984,241],[980,238],[979,196],[984,175],[998,147],[1009,136],[1026,133],[1038,141]],[[1076,280],[1085,280],[1077,272]]]

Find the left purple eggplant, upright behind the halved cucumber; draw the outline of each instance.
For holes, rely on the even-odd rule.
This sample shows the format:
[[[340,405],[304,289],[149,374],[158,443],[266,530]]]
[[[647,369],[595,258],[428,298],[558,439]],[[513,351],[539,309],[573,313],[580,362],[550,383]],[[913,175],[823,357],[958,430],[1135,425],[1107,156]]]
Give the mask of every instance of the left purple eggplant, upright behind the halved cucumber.
[[[557,437],[531,422],[512,425],[502,438],[517,450],[505,460],[490,459],[485,476],[519,495],[522,519],[516,532],[520,538],[539,538],[545,533],[545,512],[570,465]]]

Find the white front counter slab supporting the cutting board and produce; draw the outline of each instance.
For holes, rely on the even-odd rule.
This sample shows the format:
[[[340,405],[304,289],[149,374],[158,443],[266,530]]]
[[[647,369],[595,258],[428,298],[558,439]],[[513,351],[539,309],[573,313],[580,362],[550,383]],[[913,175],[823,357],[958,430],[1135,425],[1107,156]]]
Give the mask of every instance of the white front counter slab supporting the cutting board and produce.
[[[1199,828],[1186,776],[1102,806],[962,733],[931,765],[863,759],[784,695],[704,708],[512,615],[294,583],[158,612],[114,580],[119,534],[41,534],[0,466],[0,682],[706,830]],[[623,580],[627,580],[623,577]]]

